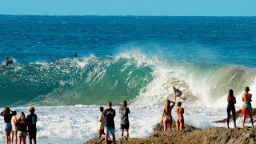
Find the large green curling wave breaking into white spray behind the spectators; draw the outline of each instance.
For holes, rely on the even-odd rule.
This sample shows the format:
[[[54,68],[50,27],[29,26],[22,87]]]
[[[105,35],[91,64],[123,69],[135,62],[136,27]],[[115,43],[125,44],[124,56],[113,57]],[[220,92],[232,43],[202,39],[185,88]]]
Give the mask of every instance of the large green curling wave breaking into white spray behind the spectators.
[[[64,59],[62,63],[14,64],[0,74],[1,105],[162,105],[182,90],[190,106],[225,106],[226,93],[256,89],[255,70],[149,57],[139,51],[116,56]]]

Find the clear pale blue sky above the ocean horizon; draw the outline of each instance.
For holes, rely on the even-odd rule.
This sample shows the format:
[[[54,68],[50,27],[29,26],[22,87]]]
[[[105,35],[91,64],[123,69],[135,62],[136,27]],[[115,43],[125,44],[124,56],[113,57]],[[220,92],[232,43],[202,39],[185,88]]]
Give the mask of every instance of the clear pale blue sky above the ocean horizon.
[[[1,0],[0,14],[256,16],[256,0]]]

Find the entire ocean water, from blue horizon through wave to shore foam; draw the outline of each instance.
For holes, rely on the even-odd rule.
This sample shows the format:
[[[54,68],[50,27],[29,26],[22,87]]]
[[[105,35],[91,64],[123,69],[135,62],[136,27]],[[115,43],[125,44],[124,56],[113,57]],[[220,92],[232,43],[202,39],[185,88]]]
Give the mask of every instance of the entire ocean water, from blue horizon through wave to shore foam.
[[[38,142],[82,143],[97,137],[99,106],[127,100],[130,136],[145,138],[176,86],[186,123],[224,126],[212,122],[226,118],[228,90],[238,108],[245,86],[255,95],[255,55],[256,17],[0,15],[0,58],[14,59],[0,106],[36,106]]]

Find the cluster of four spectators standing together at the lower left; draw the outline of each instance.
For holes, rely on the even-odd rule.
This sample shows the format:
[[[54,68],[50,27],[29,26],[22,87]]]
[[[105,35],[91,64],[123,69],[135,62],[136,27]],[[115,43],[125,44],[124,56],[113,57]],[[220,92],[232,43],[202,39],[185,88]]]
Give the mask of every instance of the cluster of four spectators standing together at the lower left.
[[[3,130],[6,136],[6,144],[10,143],[19,143],[26,144],[26,136],[29,135],[30,144],[32,144],[32,140],[34,140],[34,144],[36,143],[36,135],[37,135],[37,120],[38,117],[34,114],[34,106],[30,106],[30,114],[25,115],[24,112],[21,112],[16,117],[17,112],[10,110],[9,107],[6,107],[5,110],[2,111],[1,116],[4,117],[4,126]]]

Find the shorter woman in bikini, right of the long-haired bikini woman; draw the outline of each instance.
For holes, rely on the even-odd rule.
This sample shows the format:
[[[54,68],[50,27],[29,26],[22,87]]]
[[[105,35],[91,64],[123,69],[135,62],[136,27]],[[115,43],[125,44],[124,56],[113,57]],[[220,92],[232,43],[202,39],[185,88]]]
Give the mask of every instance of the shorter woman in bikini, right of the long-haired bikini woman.
[[[182,102],[178,102],[178,107],[175,109],[175,113],[177,115],[176,118],[176,127],[177,130],[183,130],[184,128],[184,108],[182,107]]]

